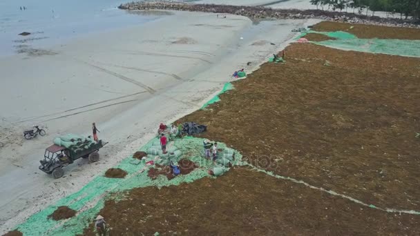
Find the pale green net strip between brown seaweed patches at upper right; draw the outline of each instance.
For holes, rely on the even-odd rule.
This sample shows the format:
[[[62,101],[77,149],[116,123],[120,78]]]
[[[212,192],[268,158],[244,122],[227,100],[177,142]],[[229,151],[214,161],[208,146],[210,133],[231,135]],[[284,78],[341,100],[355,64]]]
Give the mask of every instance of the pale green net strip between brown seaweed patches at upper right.
[[[359,39],[349,32],[318,32],[312,30],[302,33],[298,38],[305,37],[308,33],[327,35],[328,37],[334,38],[335,40],[313,42],[330,48],[401,55],[405,57],[420,57],[420,40]]]

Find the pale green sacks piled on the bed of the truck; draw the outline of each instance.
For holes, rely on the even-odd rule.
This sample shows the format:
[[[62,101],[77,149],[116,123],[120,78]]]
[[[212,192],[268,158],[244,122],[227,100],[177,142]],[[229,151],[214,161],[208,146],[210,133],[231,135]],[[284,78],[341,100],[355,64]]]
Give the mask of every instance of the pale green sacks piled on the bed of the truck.
[[[96,142],[90,137],[68,134],[54,139],[54,144],[68,148],[73,153],[79,153],[95,146]]]

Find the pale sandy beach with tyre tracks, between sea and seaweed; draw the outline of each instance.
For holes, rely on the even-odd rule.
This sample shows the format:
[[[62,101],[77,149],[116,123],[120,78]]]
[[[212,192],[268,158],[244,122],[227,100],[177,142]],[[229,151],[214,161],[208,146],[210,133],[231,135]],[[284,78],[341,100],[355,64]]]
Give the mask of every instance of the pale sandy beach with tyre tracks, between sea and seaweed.
[[[199,109],[233,71],[258,68],[294,37],[292,29],[314,22],[173,12],[0,59],[0,231],[79,190],[149,141],[160,122]],[[94,121],[109,141],[98,163],[80,159],[61,179],[38,170],[54,137],[90,135]],[[46,137],[23,139],[35,124]]]

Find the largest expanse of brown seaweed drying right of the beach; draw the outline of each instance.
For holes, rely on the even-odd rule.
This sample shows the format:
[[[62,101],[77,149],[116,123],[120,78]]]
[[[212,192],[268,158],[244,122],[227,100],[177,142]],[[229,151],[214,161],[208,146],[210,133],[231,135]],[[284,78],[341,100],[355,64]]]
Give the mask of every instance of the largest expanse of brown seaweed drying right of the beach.
[[[312,43],[294,43],[288,50],[285,64],[265,63],[249,78],[233,82],[238,87],[221,95],[219,103],[180,119],[198,120],[199,124],[208,125],[209,130],[197,137],[222,141],[239,150],[247,161],[253,161],[259,168],[236,168],[220,179],[202,179],[182,188],[131,190],[125,199],[109,201],[100,212],[113,222],[114,233],[125,232],[126,227],[137,234],[158,231],[162,234],[188,232],[193,235],[215,231],[223,235],[419,232],[418,199],[415,198],[415,188],[412,188],[417,186],[418,181],[410,177],[417,173],[417,168],[405,164],[405,161],[411,162],[417,153],[417,140],[412,134],[415,121],[405,115],[395,117],[395,112],[400,111],[416,117],[416,99],[412,97],[406,101],[408,106],[401,108],[401,103],[393,101],[395,97],[405,101],[399,91],[392,89],[396,86],[378,86],[381,84],[379,81],[400,83],[400,79],[394,79],[399,78],[395,77],[399,73],[401,77],[405,73],[420,76],[416,70],[419,59],[344,52]],[[395,61],[394,68],[387,68],[381,73],[374,70],[381,62],[391,59]],[[326,66],[324,60],[331,64]],[[363,70],[366,67],[370,69]],[[406,72],[409,68],[411,71]],[[414,82],[415,78],[408,80]],[[334,89],[330,90],[330,86]],[[412,95],[416,94],[412,86],[405,88]],[[376,93],[382,90],[394,92],[395,97]],[[366,98],[363,99],[363,96]],[[378,103],[381,100],[386,102]],[[378,104],[387,104],[388,108],[372,109]],[[358,106],[370,109],[361,110]],[[383,123],[370,126],[372,122],[378,122],[377,117],[383,118],[377,114],[370,115],[371,112],[379,112],[390,122],[401,124],[405,130],[404,137],[395,137],[394,130],[390,130],[387,122],[382,120]],[[269,128],[275,129],[270,132],[271,135],[267,135]],[[380,133],[377,132],[379,130]],[[388,137],[383,134],[385,130],[388,130]],[[405,135],[408,132],[410,135]],[[340,136],[337,138],[336,135]],[[362,141],[358,140],[361,139],[359,135],[365,135]],[[414,151],[398,155],[398,159],[394,155],[385,155],[388,150],[404,151],[399,144],[388,147],[388,138],[401,143],[408,140],[408,146]],[[375,144],[381,144],[381,148],[374,148]],[[336,152],[338,147],[343,149]],[[384,148],[388,149],[387,153],[383,153]],[[370,156],[368,153],[372,151],[375,155]],[[400,161],[400,158],[403,160]],[[386,167],[383,166],[384,159]],[[418,166],[417,162],[412,163]],[[376,168],[381,168],[379,177]],[[392,170],[400,168],[404,171],[394,175]],[[349,170],[354,174],[349,175]],[[407,176],[405,171],[412,174]],[[410,193],[403,193],[409,190]],[[169,196],[170,204],[166,204]],[[143,206],[132,207],[133,204],[143,203],[143,199]],[[209,208],[211,214],[208,214]],[[231,210],[226,210],[228,208]],[[184,209],[191,209],[192,213]],[[167,215],[174,217],[166,218]],[[249,226],[249,215],[258,219],[256,224]],[[144,219],[144,222],[120,224],[119,219],[126,216],[135,216]],[[146,219],[149,216],[152,219]],[[166,224],[154,224],[161,219],[165,219]],[[217,225],[203,224],[218,219],[222,220]],[[231,219],[239,223],[232,225]],[[88,227],[85,233],[93,235],[94,231]]]

